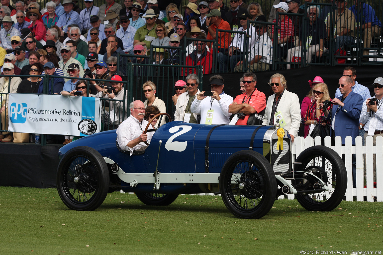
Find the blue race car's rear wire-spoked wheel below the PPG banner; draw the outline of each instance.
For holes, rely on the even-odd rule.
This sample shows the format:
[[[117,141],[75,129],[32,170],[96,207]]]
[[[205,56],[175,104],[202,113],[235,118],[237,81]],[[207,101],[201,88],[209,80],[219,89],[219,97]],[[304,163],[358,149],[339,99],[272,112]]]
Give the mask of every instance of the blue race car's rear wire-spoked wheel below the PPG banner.
[[[108,189],[108,167],[98,151],[79,146],[65,153],[57,168],[57,190],[69,209],[97,209]]]

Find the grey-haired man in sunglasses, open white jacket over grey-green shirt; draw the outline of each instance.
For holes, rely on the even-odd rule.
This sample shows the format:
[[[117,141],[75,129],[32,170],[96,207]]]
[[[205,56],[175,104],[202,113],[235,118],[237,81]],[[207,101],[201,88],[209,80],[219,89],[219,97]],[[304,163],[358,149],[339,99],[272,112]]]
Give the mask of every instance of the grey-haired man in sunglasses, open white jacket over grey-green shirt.
[[[198,114],[191,112],[190,106],[196,99],[196,95],[201,91],[198,89],[200,79],[198,75],[191,73],[186,76],[186,86],[188,91],[178,96],[175,106],[174,120],[181,120],[187,123],[198,123]]]

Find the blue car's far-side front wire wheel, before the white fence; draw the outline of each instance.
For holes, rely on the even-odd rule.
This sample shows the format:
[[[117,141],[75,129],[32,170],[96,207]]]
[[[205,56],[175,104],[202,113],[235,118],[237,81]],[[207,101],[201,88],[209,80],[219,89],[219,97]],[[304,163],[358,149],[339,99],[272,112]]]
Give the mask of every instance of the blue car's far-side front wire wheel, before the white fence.
[[[319,193],[295,195],[296,200],[309,211],[331,211],[336,208],[346,193],[347,172],[342,158],[333,150],[324,146],[313,146],[305,149],[295,162],[301,162],[296,171],[310,172],[321,179],[329,187],[328,191]],[[313,189],[305,178],[296,178],[292,184],[299,187]]]

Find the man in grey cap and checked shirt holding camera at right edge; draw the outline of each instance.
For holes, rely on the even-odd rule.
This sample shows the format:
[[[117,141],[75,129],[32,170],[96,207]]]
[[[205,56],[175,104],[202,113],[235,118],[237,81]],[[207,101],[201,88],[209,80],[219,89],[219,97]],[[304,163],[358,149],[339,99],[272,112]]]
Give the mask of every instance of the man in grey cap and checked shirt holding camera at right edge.
[[[378,77],[374,81],[375,96],[364,101],[359,122],[364,125],[364,139],[368,135],[373,138],[373,145],[376,145],[376,137],[383,136],[383,112],[380,110],[383,98],[383,77]],[[376,154],[373,156],[374,182],[376,182]],[[365,164],[366,166],[366,164]],[[366,169],[364,172],[366,178]]]

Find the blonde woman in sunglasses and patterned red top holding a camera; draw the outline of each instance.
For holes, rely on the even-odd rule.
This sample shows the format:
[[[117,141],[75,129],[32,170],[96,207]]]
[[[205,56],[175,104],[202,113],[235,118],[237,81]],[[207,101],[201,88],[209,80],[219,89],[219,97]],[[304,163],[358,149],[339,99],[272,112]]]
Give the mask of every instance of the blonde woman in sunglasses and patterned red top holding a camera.
[[[326,117],[324,117],[324,110],[320,106],[320,104],[326,100],[331,101],[329,89],[327,88],[326,83],[317,83],[315,86],[313,86],[312,98],[314,100],[309,105],[306,112],[306,116],[304,118],[305,125],[310,125],[307,135],[311,135],[311,132],[313,131],[316,125],[326,126],[327,124],[330,124],[329,120],[327,120]],[[327,107],[327,110],[330,111],[331,107],[332,105]]]

